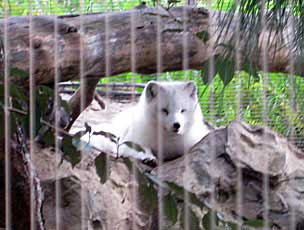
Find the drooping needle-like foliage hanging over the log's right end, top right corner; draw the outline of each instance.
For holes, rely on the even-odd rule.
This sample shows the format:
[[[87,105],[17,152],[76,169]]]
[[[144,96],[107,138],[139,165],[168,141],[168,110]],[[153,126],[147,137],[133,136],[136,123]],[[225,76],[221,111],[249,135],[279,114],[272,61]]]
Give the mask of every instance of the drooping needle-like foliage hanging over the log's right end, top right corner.
[[[227,31],[233,31],[230,41],[227,41],[225,45],[231,45],[235,50],[236,46],[239,46],[236,41],[242,41],[241,52],[245,59],[242,60],[243,63],[248,63],[251,60],[259,62],[257,60],[259,49],[256,48],[256,45],[261,40],[260,36],[264,30],[277,37],[284,37],[286,31],[292,27],[293,32],[290,40],[283,41],[282,44],[278,45],[275,44],[276,39],[269,36],[269,39],[266,40],[267,45],[274,47],[277,51],[287,46],[290,47],[290,50],[295,51],[297,56],[303,56],[304,4],[302,0],[216,0],[214,2],[214,8],[226,11],[224,17],[219,17],[219,38],[216,39],[222,41],[220,38],[226,36]],[[237,26],[236,15],[239,18]],[[290,20],[293,21],[292,25],[289,23]],[[296,68],[300,63],[299,58],[296,60]]]

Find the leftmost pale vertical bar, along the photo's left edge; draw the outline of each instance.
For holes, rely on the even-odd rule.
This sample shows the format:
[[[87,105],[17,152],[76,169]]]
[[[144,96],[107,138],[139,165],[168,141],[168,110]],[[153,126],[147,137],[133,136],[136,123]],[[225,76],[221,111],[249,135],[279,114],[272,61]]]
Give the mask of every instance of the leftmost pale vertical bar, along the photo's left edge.
[[[11,216],[11,153],[10,153],[10,112],[9,112],[9,11],[4,7],[4,137],[5,137],[5,227],[12,229]]]

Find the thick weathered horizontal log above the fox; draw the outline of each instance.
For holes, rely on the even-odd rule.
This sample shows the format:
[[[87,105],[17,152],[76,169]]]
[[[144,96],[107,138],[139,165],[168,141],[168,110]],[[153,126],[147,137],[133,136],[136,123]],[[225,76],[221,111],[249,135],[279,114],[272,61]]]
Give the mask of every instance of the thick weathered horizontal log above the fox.
[[[0,37],[2,40],[4,36],[9,38],[5,49],[9,67],[31,72],[36,84],[51,84],[54,82],[56,67],[60,81],[78,79],[80,73],[91,79],[129,72],[132,70],[132,55],[135,58],[135,71],[142,74],[183,68],[202,69],[203,63],[210,57],[227,55],[226,50],[218,44],[229,44],[237,35],[235,19],[227,30],[220,29],[225,16],[223,12],[185,6],[174,7],[169,11],[163,8],[145,8],[82,16],[36,16],[32,19],[10,17],[0,20]],[[7,33],[4,30],[5,23],[8,26]],[[291,71],[289,57],[298,60],[300,54],[295,51],[290,53],[290,31],[290,28],[284,30],[283,37],[281,34],[263,31],[259,34],[256,47],[251,46],[255,53],[250,60],[246,56],[246,41],[239,41],[240,68],[245,64],[254,64],[258,70]],[[202,33],[207,34],[204,38],[199,38]],[[269,37],[272,42],[268,42]],[[186,56],[189,58],[186,66],[183,65],[185,39],[188,51]],[[160,67],[157,63],[158,41]],[[262,63],[264,55],[268,61],[267,69]],[[0,63],[0,70],[3,69],[4,61]],[[294,71],[302,74],[303,69],[302,65]],[[19,80],[19,83],[28,83],[28,79]]]

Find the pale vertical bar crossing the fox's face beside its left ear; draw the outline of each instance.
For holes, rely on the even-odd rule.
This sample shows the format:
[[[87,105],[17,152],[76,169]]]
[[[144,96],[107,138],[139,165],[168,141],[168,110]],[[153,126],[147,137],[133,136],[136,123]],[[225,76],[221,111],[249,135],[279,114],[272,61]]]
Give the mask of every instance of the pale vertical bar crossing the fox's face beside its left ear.
[[[157,80],[159,80],[159,76],[162,72],[162,50],[161,50],[161,17],[160,17],[160,10],[161,6],[159,5],[159,1],[157,1],[157,10],[158,14],[156,16],[156,63],[157,63]],[[161,111],[161,100],[160,97],[157,97],[157,109],[158,111]],[[161,121],[161,114],[157,113],[157,149],[158,149],[158,162],[159,165],[162,166],[163,161],[164,161],[164,156],[163,156],[163,130],[160,124]],[[158,167],[158,175],[162,177],[162,169],[161,167]],[[158,191],[158,229],[162,230],[163,229],[163,218],[164,218],[164,205],[163,205],[163,188],[162,186],[159,186],[159,191]]]

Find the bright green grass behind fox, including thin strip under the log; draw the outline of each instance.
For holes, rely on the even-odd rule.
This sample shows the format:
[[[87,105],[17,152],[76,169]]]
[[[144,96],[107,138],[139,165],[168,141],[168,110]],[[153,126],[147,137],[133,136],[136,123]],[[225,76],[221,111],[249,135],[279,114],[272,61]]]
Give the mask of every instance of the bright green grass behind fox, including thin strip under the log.
[[[262,75],[250,65],[246,68],[249,73],[239,72],[234,75],[233,62],[223,62],[223,59],[219,59],[215,69],[218,68],[221,74],[214,71],[213,77],[208,76],[208,69],[203,69],[163,73],[159,76],[127,73],[102,79],[101,82],[194,80],[199,88],[204,116],[213,124],[227,125],[239,117],[250,124],[264,124],[285,136],[294,137],[297,145],[304,148],[304,79],[295,76],[292,80],[281,73]],[[227,68],[221,68],[223,65],[227,65]],[[206,63],[206,68],[208,66],[210,64]],[[263,114],[267,117],[263,117]]]

